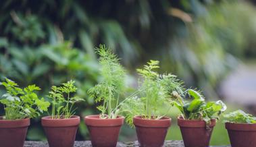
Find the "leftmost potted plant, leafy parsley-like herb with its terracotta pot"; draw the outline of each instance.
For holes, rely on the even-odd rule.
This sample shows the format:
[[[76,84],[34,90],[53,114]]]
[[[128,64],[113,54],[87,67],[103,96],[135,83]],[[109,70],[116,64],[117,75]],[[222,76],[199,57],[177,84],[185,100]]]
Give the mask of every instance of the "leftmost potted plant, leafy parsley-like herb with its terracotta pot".
[[[22,89],[16,82],[7,78],[0,84],[6,89],[0,100],[5,111],[5,116],[0,117],[0,144],[23,147],[30,118],[38,117],[43,111],[47,111],[50,104],[37,96],[34,91],[40,88],[35,85]]]

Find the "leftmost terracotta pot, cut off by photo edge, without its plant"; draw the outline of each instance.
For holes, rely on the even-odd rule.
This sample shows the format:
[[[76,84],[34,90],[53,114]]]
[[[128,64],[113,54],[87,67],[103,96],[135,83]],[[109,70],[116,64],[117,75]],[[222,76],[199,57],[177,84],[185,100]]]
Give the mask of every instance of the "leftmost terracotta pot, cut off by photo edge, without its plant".
[[[0,146],[23,147],[30,119],[4,120],[0,117]]]

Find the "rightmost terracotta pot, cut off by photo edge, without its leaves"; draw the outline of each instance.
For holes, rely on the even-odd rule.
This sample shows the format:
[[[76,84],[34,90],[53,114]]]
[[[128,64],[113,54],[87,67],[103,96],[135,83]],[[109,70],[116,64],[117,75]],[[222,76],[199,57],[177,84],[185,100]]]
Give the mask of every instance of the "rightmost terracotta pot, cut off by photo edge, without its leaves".
[[[225,123],[232,147],[256,146],[256,124]]]

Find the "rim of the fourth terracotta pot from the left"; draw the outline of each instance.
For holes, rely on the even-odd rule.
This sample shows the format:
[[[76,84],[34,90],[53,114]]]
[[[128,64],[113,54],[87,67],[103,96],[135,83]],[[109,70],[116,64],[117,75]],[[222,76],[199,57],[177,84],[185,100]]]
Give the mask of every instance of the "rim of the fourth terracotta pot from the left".
[[[143,119],[141,115],[133,117],[133,123],[136,127],[170,127],[172,119],[170,117],[162,117],[162,119]]]

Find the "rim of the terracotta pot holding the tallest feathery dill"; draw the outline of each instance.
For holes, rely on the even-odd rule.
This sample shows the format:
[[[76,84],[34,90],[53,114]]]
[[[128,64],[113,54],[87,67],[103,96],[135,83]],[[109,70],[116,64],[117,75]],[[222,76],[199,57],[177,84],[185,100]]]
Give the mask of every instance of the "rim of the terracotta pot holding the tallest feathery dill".
[[[116,119],[100,119],[99,115],[87,115],[84,117],[84,123],[94,127],[118,127],[124,124],[124,117],[118,115]]]

